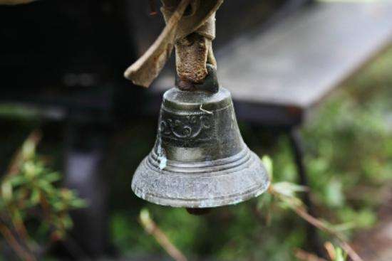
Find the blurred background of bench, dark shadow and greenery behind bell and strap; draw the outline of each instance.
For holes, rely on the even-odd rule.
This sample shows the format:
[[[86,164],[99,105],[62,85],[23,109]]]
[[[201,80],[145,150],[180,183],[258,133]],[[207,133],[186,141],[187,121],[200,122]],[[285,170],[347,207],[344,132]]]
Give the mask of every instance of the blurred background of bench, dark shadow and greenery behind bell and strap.
[[[188,260],[297,260],[334,243],[268,194],[200,216],[133,194],[174,65],[148,90],[123,71],[165,26],[159,6],[0,6],[0,260],[172,260],[142,210]],[[225,1],[217,13],[218,75],[244,141],[272,159],[274,182],[308,186],[309,212],[363,260],[392,258],[391,36],[390,1]]]

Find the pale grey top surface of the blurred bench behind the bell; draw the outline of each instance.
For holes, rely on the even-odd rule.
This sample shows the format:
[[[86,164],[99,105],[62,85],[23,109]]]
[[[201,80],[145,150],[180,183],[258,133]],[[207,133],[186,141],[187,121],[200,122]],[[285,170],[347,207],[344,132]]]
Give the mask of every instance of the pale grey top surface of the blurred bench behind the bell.
[[[392,39],[392,3],[319,3],[218,57],[235,100],[306,108]]]

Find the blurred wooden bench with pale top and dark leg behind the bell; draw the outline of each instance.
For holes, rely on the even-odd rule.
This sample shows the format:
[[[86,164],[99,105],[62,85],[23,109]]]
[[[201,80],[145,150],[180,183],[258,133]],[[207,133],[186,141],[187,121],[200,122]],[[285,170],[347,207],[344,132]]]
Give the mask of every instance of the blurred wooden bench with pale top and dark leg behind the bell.
[[[391,41],[392,3],[316,2],[218,50],[218,76],[232,92],[238,119],[288,135],[299,183],[308,186],[298,127],[314,105]],[[154,95],[160,97],[173,78],[160,78]],[[304,202],[316,215],[309,194]],[[308,245],[322,254],[316,230],[309,226],[307,233]]]

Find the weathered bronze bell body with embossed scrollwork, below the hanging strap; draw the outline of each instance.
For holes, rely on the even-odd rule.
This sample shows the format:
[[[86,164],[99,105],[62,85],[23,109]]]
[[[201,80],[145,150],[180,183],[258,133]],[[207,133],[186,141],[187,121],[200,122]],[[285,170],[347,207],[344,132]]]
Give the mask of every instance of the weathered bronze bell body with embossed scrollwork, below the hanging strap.
[[[269,186],[244,144],[228,90],[163,95],[153,151],[135,172],[137,196],[163,206],[212,208],[259,196]]]

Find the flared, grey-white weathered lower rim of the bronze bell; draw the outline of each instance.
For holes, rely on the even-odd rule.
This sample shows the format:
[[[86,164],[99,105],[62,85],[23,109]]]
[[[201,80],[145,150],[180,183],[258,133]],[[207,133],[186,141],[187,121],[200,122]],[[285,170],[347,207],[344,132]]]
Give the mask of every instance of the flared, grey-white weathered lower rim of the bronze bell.
[[[269,186],[267,171],[247,147],[227,159],[210,162],[167,161],[160,169],[152,152],[132,182],[134,193],[152,203],[178,208],[213,208],[247,201]]]

